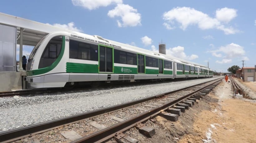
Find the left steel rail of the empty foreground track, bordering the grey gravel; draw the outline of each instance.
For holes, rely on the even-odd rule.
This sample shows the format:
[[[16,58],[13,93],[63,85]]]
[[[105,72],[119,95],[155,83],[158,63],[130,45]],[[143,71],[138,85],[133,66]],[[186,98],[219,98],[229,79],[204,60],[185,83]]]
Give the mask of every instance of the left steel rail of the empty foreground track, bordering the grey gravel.
[[[221,78],[221,79],[223,79],[223,78]],[[214,80],[219,81],[221,79],[214,79]],[[212,80],[212,81],[214,81],[214,80]],[[211,81],[208,81],[208,82],[211,82]],[[208,83],[208,82],[204,82],[204,83]],[[122,108],[126,108],[126,107],[130,107],[130,106],[133,106],[133,105],[136,105],[136,104],[140,104],[141,102],[146,102],[146,101],[149,101],[149,100],[153,100],[155,98],[160,98],[160,97],[163,97],[165,95],[172,94],[172,93],[175,93],[175,92],[179,92],[181,90],[185,90],[185,89],[188,89],[188,88],[191,88],[191,87],[194,87],[194,86],[197,86],[197,85],[201,85],[201,84],[204,84],[204,83],[199,83],[199,84],[192,85],[192,86],[189,86],[189,87],[186,87],[186,88],[181,88],[181,89],[178,89],[178,90],[175,90],[175,91],[171,91],[171,92],[168,92],[168,93],[155,95],[155,96],[148,97],[148,98],[142,98],[142,99],[139,99],[139,100],[136,100],[136,101],[127,102],[127,103],[123,103],[123,104],[115,105],[115,106],[111,106],[111,107],[106,107],[106,108],[102,108],[102,109],[91,111],[91,112],[81,113],[81,114],[72,115],[72,116],[68,116],[68,117],[63,117],[63,118],[59,118],[59,119],[55,119],[55,120],[51,120],[51,121],[47,121],[47,122],[33,124],[33,125],[30,125],[30,126],[25,126],[25,127],[20,127],[20,128],[17,128],[17,129],[3,131],[3,132],[0,132],[0,142],[9,141],[9,140],[12,141],[15,138],[22,138],[22,137],[25,137],[25,136],[29,136],[33,133],[40,133],[40,132],[45,131],[47,129],[56,128],[58,126],[67,125],[67,124],[71,124],[73,122],[84,120],[86,118],[91,118],[91,117],[95,117],[95,116],[98,116],[98,115],[101,115],[101,114],[106,114],[108,112],[113,112],[113,111],[116,111],[116,110],[120,110]]]

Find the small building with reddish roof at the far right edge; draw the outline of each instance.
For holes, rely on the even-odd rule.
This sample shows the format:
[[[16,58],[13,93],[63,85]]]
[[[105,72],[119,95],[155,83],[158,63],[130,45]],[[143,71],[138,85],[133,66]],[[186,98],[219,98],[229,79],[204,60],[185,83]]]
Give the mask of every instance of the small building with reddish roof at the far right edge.
[[[256,71],[254,67],[243,67],[240,77],[243,77],[244,81],[256,81]]]

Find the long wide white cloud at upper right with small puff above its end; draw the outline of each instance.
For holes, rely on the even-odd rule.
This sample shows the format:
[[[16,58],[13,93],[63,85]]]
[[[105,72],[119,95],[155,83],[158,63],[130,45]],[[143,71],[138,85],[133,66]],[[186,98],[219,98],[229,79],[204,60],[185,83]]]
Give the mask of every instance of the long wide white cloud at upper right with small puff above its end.
[[[221,12],[220,10],[217,11]],[[231,15],[229,11],[231,10],[224,10],[224,12],[226,12],[224,15],[229,16],[227,19],[230,21],[234,18],[234,15]],[[239,32],[239,30],[235,30],[232,26],[224,26],[225,23],[222,23],[222,21],[219,21],[217,18],[209,17],[207,14],[190,7],[173,8],[164,13],[163,19],[166,21],[166,24],[164,24],[166,28],[172,27],[171,25],[175,24],[174,21],[177,21],[180,23],[182,30],[186,30],[190,25],[197,25],[202,30],[218,29],[224,31],[225,34],[235,34]]]

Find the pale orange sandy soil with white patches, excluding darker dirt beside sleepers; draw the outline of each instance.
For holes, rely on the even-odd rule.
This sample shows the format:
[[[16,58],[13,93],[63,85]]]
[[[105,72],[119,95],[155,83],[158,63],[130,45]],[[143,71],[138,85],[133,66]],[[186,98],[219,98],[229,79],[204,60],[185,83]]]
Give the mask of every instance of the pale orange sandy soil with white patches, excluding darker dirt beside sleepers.
[[[230,83],[222,82],[208,96],[210,110],[199,113],[190,134],[179,142],[256,142],[256,101],[233,97]],[[214,101],[214,100],[213,100]],[[195,135],[197,133],[197,135]]]

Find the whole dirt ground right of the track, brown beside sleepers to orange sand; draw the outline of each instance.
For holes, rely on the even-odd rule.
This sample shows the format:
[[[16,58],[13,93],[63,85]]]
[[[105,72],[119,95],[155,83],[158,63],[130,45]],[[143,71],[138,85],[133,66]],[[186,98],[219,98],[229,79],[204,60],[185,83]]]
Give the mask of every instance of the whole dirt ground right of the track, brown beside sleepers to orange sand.
[[[222,81],[214,90],[186,110],[176,122],[155,117],[146,122],[155,128],[152,138],[134,134],[139,142],[256,142],[256,100],[233,96],[231,84]],[[132,129],[133,130],[133,129]],[[135,129],[134,129],[135,130]]]

